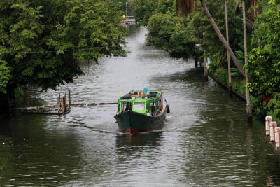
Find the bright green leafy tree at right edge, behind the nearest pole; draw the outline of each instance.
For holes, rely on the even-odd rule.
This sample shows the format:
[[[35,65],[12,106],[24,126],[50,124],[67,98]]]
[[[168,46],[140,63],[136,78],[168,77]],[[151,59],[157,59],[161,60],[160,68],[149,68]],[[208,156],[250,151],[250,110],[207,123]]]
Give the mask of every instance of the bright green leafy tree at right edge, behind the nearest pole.
[[[269,1],[269,6],[255,21],[252,38],[255,48],[248,54],[248,76],[251,79],[248,87],[255,97],[272,97],[274,92],[280,92],[279,22],[280,11],[276,10],[276,2]]]

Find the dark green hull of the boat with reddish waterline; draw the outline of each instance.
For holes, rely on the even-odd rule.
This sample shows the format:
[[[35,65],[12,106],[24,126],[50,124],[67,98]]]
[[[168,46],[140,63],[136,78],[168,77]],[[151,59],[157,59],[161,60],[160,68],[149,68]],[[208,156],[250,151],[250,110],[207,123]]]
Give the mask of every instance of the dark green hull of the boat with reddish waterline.
[[[162,128],[165,123],[166,113],[166,108],[158,116],[146,116],[134,111],[125,111],[117,114],[114,118],[117,120],[120,132],[134,134],[136,132],[146,132]]]

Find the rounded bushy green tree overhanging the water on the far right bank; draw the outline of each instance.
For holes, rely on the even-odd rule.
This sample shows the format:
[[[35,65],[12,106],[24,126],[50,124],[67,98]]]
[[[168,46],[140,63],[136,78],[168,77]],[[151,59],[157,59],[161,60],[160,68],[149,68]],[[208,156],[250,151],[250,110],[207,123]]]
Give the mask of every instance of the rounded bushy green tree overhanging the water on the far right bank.
[[[148,22],[149,43],[167,50],[172,57],[195,60],[202,51],[195,47],[196,39],[192,37],[193,29],[189,28],[190,20],[177,16],[176,13],[156,13]],[[189,36],[189,37],[186,37]]]

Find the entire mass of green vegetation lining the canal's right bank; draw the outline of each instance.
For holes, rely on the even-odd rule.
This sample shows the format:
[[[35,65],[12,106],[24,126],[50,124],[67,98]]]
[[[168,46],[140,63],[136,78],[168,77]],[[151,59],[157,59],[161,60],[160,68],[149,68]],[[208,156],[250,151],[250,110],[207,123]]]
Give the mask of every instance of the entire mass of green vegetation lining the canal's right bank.
[[[244,33],[241,1],[227,1],[232,89],[246,97],[253,113],[261,118],[273,116],[280,121],[280,11],[274,0],[245,1],[248,65],[244,57]],[[229,84],[228,48],[212,27],[205,9],[226,36],[225,1],[134,0],[134,15],[139,24],[147,25],[149,44],[167,50],[172,57],[193,58],[203,62],[209,57],[209,74]],[[197,45],[198,44],[198,45]],[[197,47],[199,46],[199,47]],[[248,69],[248,83],[244,72]]]

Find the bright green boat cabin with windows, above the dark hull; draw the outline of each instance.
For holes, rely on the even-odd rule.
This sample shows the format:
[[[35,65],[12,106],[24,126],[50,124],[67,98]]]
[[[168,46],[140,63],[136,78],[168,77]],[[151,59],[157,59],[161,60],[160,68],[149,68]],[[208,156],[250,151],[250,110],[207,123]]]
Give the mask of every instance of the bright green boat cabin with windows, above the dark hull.
[[[134,111],[147,116],[157,116],[163,108],[162,91],[138,90],[130,92],[118,100],[118,113]]]

